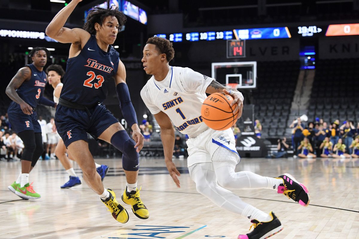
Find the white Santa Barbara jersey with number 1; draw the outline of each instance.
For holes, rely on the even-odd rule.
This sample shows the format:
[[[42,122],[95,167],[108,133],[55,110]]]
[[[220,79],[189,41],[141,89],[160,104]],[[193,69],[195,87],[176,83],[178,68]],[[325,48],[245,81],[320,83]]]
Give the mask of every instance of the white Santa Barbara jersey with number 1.
[[[182,134],[192,138],[208,129],[201,117],[206,89],[213,78],[190,68],[170,67],[163,81],[152,76],[141,90],[151,114],[164,112]]]

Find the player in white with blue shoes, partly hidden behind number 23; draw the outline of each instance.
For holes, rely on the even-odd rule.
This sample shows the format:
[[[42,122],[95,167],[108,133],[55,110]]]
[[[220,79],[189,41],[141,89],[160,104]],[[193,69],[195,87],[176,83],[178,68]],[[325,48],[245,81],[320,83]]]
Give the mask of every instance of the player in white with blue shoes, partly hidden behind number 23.
[[[61,77],[65,75],[65,71],[64,69],[62,69],[62,66],[53,64],[46,68],[46,73],[48,77],[48,83],[53,87],[53,101],[59,103],[59,97],[63,86],[63,84],[61,83]],[[64,166],[66,172],[69,174],[70,177],[70,180],[67,181],[64,185],[62,185],[61,188],[70,188],[76,185],[80,185],[80,178],[76,175],[69,158],[66,156],[66,147],[64,141],[61,138],[56,145],[55,154],[56,157],[59,158],[62,166]],[[67,154],[69,154],[69,152],[67,152]],[[108,171],[108,166],[100,165],[96,162],[95,165],[96,171],[101,176],[101,180],[103,180]]]

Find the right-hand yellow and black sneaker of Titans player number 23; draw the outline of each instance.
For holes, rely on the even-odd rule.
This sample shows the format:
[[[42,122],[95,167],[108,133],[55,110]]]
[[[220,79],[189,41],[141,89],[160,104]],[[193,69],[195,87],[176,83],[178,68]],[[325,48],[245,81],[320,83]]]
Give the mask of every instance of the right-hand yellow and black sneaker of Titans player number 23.
[[[141,188],[140,188],[141,190]],[[147,207],[140,199],[140,190],[136,188],[136,191],[127,192],[127,188],[123,192],[121,198],[125,204],[131,205],[132,211],[140,219],[148,219],[150,216]]]

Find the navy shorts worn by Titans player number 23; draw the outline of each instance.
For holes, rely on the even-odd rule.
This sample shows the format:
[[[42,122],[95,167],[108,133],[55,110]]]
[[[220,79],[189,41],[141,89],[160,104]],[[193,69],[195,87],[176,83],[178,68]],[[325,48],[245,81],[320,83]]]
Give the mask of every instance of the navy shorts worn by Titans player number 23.
[[[66,148],[78,140],[88,142],[87,133],[97,139],[109,126],[118,123],[118,120],[102,104],[88,111],[57,105],[55,125]]]

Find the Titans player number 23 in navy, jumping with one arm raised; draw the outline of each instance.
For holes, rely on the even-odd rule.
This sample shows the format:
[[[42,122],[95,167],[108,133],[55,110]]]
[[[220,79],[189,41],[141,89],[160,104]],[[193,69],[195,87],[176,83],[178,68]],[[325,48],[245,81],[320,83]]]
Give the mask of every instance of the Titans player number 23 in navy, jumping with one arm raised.
[[[67,60],[64,85],[59,107],[55,113],[55,124],[71,157],[79,164],[83,179],[108,207],[113,218],[126,223],[129,215],[118,204],[115,192],[104,188],[96,172],[90,153],[87,132],[94,138],[111,143],[123,153],[122,167],[126,174],[126,189],[122,200],[132,206],[134,214],[147,219],[149,212],[140,199],[137,189],[139,151],[144,137],[137,124],[126,85],[126,70],[111,46],[116,40],[118,29],[126,22],[126,16],[117,9],[94,8],[87,15],[84,29],[63,27],[67,18],[81,0],[73,0],[59,11],[46,28],[46,34],[62,43],[72,43]],[[107,83],[115,79],[116,90],[123,117],[131,125],[132,137],[101,103],[107,96]],[[136,142],[135,142],[136,141]]]

